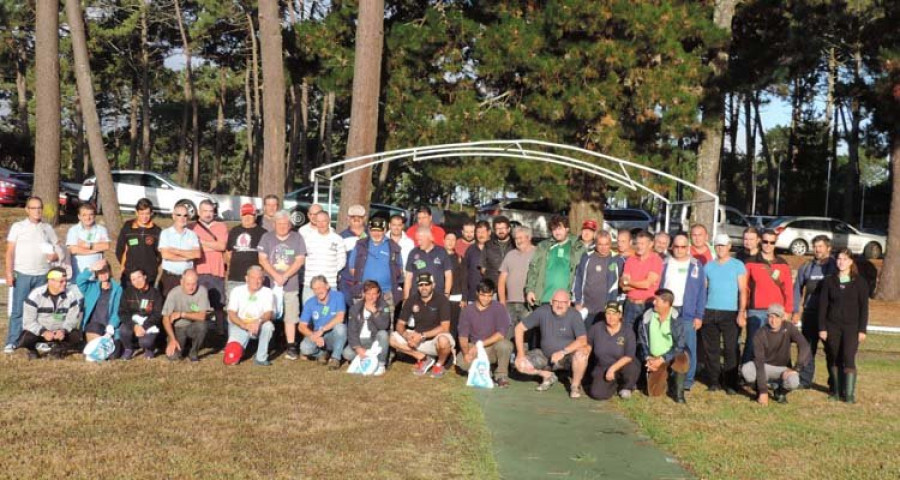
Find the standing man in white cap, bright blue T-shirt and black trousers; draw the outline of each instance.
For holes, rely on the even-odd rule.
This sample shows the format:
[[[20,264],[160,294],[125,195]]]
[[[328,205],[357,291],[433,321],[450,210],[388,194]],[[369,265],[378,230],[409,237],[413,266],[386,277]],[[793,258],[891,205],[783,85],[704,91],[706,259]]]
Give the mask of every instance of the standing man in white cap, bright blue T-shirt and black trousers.
[[[728,234],[717,234],[714,243],[716,258],[703,268],[708,287],[700,339],[709,390],[724,387],[725,393],[733,395],[738,388],[738,336],[747,325],[747,269],[744,262],[732,258]]]

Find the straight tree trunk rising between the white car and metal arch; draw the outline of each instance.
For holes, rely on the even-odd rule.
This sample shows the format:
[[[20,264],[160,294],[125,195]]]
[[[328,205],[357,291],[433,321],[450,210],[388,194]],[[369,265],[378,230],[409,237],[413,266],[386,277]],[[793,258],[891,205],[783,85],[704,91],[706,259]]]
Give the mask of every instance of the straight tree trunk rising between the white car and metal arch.
[[[259,178],[262,196],[284,197],[284,59],[278,0],[259,1],[260,53],[263,70],[263,161]]]

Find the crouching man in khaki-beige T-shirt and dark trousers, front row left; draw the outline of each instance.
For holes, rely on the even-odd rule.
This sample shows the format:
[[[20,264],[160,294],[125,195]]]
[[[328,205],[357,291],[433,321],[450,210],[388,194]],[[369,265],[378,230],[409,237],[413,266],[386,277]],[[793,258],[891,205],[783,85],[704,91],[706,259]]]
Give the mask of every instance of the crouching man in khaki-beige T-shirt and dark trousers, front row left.
[[[184,358],[184,348],[190,341],[188,357],[191,362],[200,361],[200,347],[209,329],[206,325],[208,311],[209,294],[205,287],[200,286],[197,272],[189,268],[181,275],[179,285],[169,292],[163,304],[163,328],[168,337],[166,356],[169,360]]]

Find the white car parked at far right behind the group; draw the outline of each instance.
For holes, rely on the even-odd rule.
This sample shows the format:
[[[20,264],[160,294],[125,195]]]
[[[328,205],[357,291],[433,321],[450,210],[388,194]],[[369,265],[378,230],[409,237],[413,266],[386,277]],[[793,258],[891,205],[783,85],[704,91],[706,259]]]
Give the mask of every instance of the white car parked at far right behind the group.
[[[843,220],[829,217],[779,217],[768,226],[778,234],[775,248],[794,255],[806,255],[812,250],[812,239],[825,235],[832,248],[849,248],[855,255],[868,259],[884,254],[887,238],[863,233]]]

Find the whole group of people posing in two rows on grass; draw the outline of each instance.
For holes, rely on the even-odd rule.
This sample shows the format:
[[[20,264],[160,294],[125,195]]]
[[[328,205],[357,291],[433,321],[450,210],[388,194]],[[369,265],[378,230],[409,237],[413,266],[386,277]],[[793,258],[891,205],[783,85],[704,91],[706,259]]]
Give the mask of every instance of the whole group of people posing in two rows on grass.
[[[253,362],[269,366],[283,333],[290,360],[336,370],[377,351],[375,375],[405,357],[413,373],[439,378],[467,371],[480,342],[501,388],[514,368],[538,391],[562,376],[572,398],[628,398],[641,385],[683,403],[695,379],[727,394],[743,379],[767,404],[770,392],[783,402],[812,385],[822,341],[830,397],[856,399],[868,284],[849,250],[832,256],[825,236],[813,240],[814,256],[794,280],[775,253],[777,234],[754,228],[732,257],[730,238],[710,244],[699,224],[654,236],[587,220],[574,234],[554,216],[551,237],[535,245],[530,228],[503,216],[457,232],[436,225],[428,206],[406,228],[402,216],[368,218],[353,205],[338,233],[320,205],[293,229],[279,198],[268,196],[261,214],[243,205],[230,229],[211,202],[190,223],[176,206],[161,229],[142,199],[115,245],[90,204],[63,245],[42,222],[42,206],[30,198],[7,237],[14,290],[5,353],[61,357],[108,336],[115,358],[199,361],[212,332],[225,339],[226,364],[255,340]],[[119,281],[104,260],[112,248]]]

